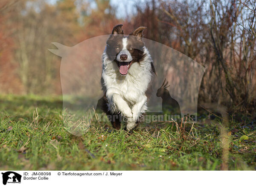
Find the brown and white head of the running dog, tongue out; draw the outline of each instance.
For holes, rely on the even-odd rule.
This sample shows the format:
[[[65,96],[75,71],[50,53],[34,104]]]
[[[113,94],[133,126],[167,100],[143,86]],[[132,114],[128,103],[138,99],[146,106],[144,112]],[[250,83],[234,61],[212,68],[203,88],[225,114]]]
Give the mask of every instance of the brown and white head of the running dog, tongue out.
[[[124,35],[122,25],[117,25],[113,28],[112,34],[108,38],[106,47],[108,58],[116,62],[122,76],[128,73],[133,63],[140,63],[145,57],[143,52],[145,44],[142,41],[142,34],[145,28],[140,26],[130,35]]]

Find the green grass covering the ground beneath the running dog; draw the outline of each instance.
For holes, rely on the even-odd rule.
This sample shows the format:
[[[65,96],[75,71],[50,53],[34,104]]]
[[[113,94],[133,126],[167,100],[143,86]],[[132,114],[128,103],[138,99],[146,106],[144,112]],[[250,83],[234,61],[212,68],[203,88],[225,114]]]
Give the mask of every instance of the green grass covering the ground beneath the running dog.
[[[81,137],[66,130],[61,112],[59,96],[0,96],[0,169],[222,169],[221,122],[209,120],[207,112],[193,127],[152,123],[128,134],[104,123],[90,127]],[[226,128],[227,167],[255,170],[256,121],[232,117]]]

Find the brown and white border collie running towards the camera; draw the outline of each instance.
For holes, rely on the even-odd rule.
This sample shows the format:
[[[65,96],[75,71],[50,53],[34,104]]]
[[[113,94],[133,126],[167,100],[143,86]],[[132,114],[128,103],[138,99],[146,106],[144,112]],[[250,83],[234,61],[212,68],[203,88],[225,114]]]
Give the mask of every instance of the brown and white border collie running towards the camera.
[[[135,128],[147,110],[148,90],[155,73],[151,56],[142,41],[139,27],[124,35],[122,25],[113,28],[102,54],[103,110],[111,115],[113,128],[120,129],[121,118],[126,131]]]

